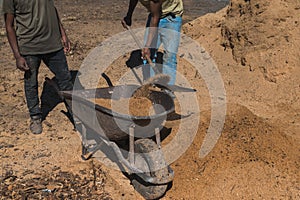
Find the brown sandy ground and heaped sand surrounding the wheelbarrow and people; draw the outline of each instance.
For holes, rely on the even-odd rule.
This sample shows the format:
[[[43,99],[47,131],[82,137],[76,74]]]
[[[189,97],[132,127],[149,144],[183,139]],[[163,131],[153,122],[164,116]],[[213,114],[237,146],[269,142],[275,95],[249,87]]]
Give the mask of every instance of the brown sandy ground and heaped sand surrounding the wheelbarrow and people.
[[[70,70],[78,70],[101,41],[124,31],[127,1],[55,2],[72,41]],[[133,27],[143,27],[146,13],[141,7],[137,13]],[[179,58],[178,71],[197,89],[201,117],[192,145],[171,164],[175,178],[162,199],[300,199],[300,2],[232,0],[194,18],[184,17],[182,32],[218,66],[226,121],[214,149],[199,158],[210,96],[201,76]],[[0,199],[142,199],[119,171],[97,159],[81,160],[80,137],[61,112],[63,104],[49,113],[43,134],[29,132],[23,75],[2,21],[0,28]],[[124,70],[122,62],[108,70],[112,81]],[[41,92],[52,76],[41,67]],[[180,126],[171,125],[174,132]]]

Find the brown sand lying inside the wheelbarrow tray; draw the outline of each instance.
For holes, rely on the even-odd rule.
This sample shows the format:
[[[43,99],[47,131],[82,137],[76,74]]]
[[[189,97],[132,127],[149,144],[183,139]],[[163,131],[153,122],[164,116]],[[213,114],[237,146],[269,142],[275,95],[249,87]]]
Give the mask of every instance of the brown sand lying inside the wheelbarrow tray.
[[[133,96],[119,100],[97,98],[93,99],[93,102],[114,112],[131,116],[150,116],[154,113],[152,102],[144,96]]]

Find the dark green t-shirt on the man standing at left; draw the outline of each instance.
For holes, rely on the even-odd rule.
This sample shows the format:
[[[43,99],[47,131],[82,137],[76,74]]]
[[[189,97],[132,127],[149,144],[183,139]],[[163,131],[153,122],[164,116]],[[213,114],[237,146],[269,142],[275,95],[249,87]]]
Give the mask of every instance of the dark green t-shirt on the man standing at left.
[[[3,13],[15,16],[22,55],[51,53],[62,48],[59,20],[53,0],[0,0]]]

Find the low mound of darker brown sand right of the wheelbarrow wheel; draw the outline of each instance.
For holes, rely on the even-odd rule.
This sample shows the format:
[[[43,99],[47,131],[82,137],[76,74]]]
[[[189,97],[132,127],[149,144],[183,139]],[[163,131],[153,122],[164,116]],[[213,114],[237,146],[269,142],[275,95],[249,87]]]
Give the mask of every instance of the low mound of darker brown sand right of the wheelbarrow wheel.
[[[199,135],[174,165],[173,189],[187,199],[297,199],[297,144],[244,106],[230,104],[228,110],[218,144],[199,159],[200,134],[209,117],[203,112]],[[176,199],[176,193],[169,193]]]

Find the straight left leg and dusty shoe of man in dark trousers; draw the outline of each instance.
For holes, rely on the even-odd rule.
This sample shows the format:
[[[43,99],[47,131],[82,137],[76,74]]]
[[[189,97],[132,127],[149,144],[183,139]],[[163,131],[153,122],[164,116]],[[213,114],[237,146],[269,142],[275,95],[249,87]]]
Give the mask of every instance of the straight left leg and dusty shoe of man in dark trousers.
[[[24,74],[25,97],[31,118],[29,128],[33,134],[40,134],[43,131],[38,96],[38,71],[41,59],[39,56],[24,56],[24,58],[30,69]]]

